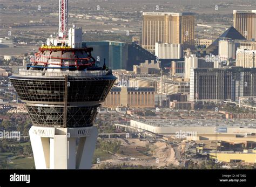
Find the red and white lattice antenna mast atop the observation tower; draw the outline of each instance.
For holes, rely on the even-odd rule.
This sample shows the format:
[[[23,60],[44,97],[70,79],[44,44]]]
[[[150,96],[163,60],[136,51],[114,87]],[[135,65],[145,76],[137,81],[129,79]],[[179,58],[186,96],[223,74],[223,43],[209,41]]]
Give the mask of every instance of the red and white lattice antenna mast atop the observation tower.
[[[68,37],[69,0],[59,0],[59,37]]]

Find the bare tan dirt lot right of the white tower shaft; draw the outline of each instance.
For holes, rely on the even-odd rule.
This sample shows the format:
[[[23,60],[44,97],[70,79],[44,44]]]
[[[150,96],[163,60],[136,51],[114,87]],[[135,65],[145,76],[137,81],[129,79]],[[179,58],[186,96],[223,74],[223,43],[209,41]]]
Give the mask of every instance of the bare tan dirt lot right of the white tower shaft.
[[[122,154],[113,155],[112,159],[102,161],[99,164],[118,165],[125,162],[126,165],[142,165],[144,167],[154,166],[163,167],[165,165],[178,165],[176,153],[171,145],[165,142],[149,143],[147,140],[140,141],[136,138],[121,139]],[[179,151],[178,149],[176,149]],[[93,165],[92,169],[96,169],[98,164]]]

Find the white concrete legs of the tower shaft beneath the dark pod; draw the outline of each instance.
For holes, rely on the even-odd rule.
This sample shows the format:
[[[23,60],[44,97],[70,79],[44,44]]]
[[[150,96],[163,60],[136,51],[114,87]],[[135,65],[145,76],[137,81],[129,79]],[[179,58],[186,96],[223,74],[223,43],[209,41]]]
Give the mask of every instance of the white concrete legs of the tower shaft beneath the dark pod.
[[[96,127],[29,130],[36,169],[91,169],[98,130]],[[79,138],[76,151],[76,138]]]

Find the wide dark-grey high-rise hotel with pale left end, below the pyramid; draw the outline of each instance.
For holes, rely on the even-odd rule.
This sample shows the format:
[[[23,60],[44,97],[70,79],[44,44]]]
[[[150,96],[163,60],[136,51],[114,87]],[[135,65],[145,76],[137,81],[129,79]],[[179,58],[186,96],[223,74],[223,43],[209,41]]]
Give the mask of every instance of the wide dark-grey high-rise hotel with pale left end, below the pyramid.
[[[256,96],[256,68],[191,68],[190,101],[238,101]]]

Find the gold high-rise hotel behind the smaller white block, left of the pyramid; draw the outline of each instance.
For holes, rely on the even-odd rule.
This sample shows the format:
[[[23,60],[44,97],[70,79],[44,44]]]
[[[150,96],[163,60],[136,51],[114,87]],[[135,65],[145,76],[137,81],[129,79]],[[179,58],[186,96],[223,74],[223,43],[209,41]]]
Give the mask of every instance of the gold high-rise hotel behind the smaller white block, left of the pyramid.
[[[194,13],[143,12],[142,47],[154,51],[156,43],[194,46]]]

